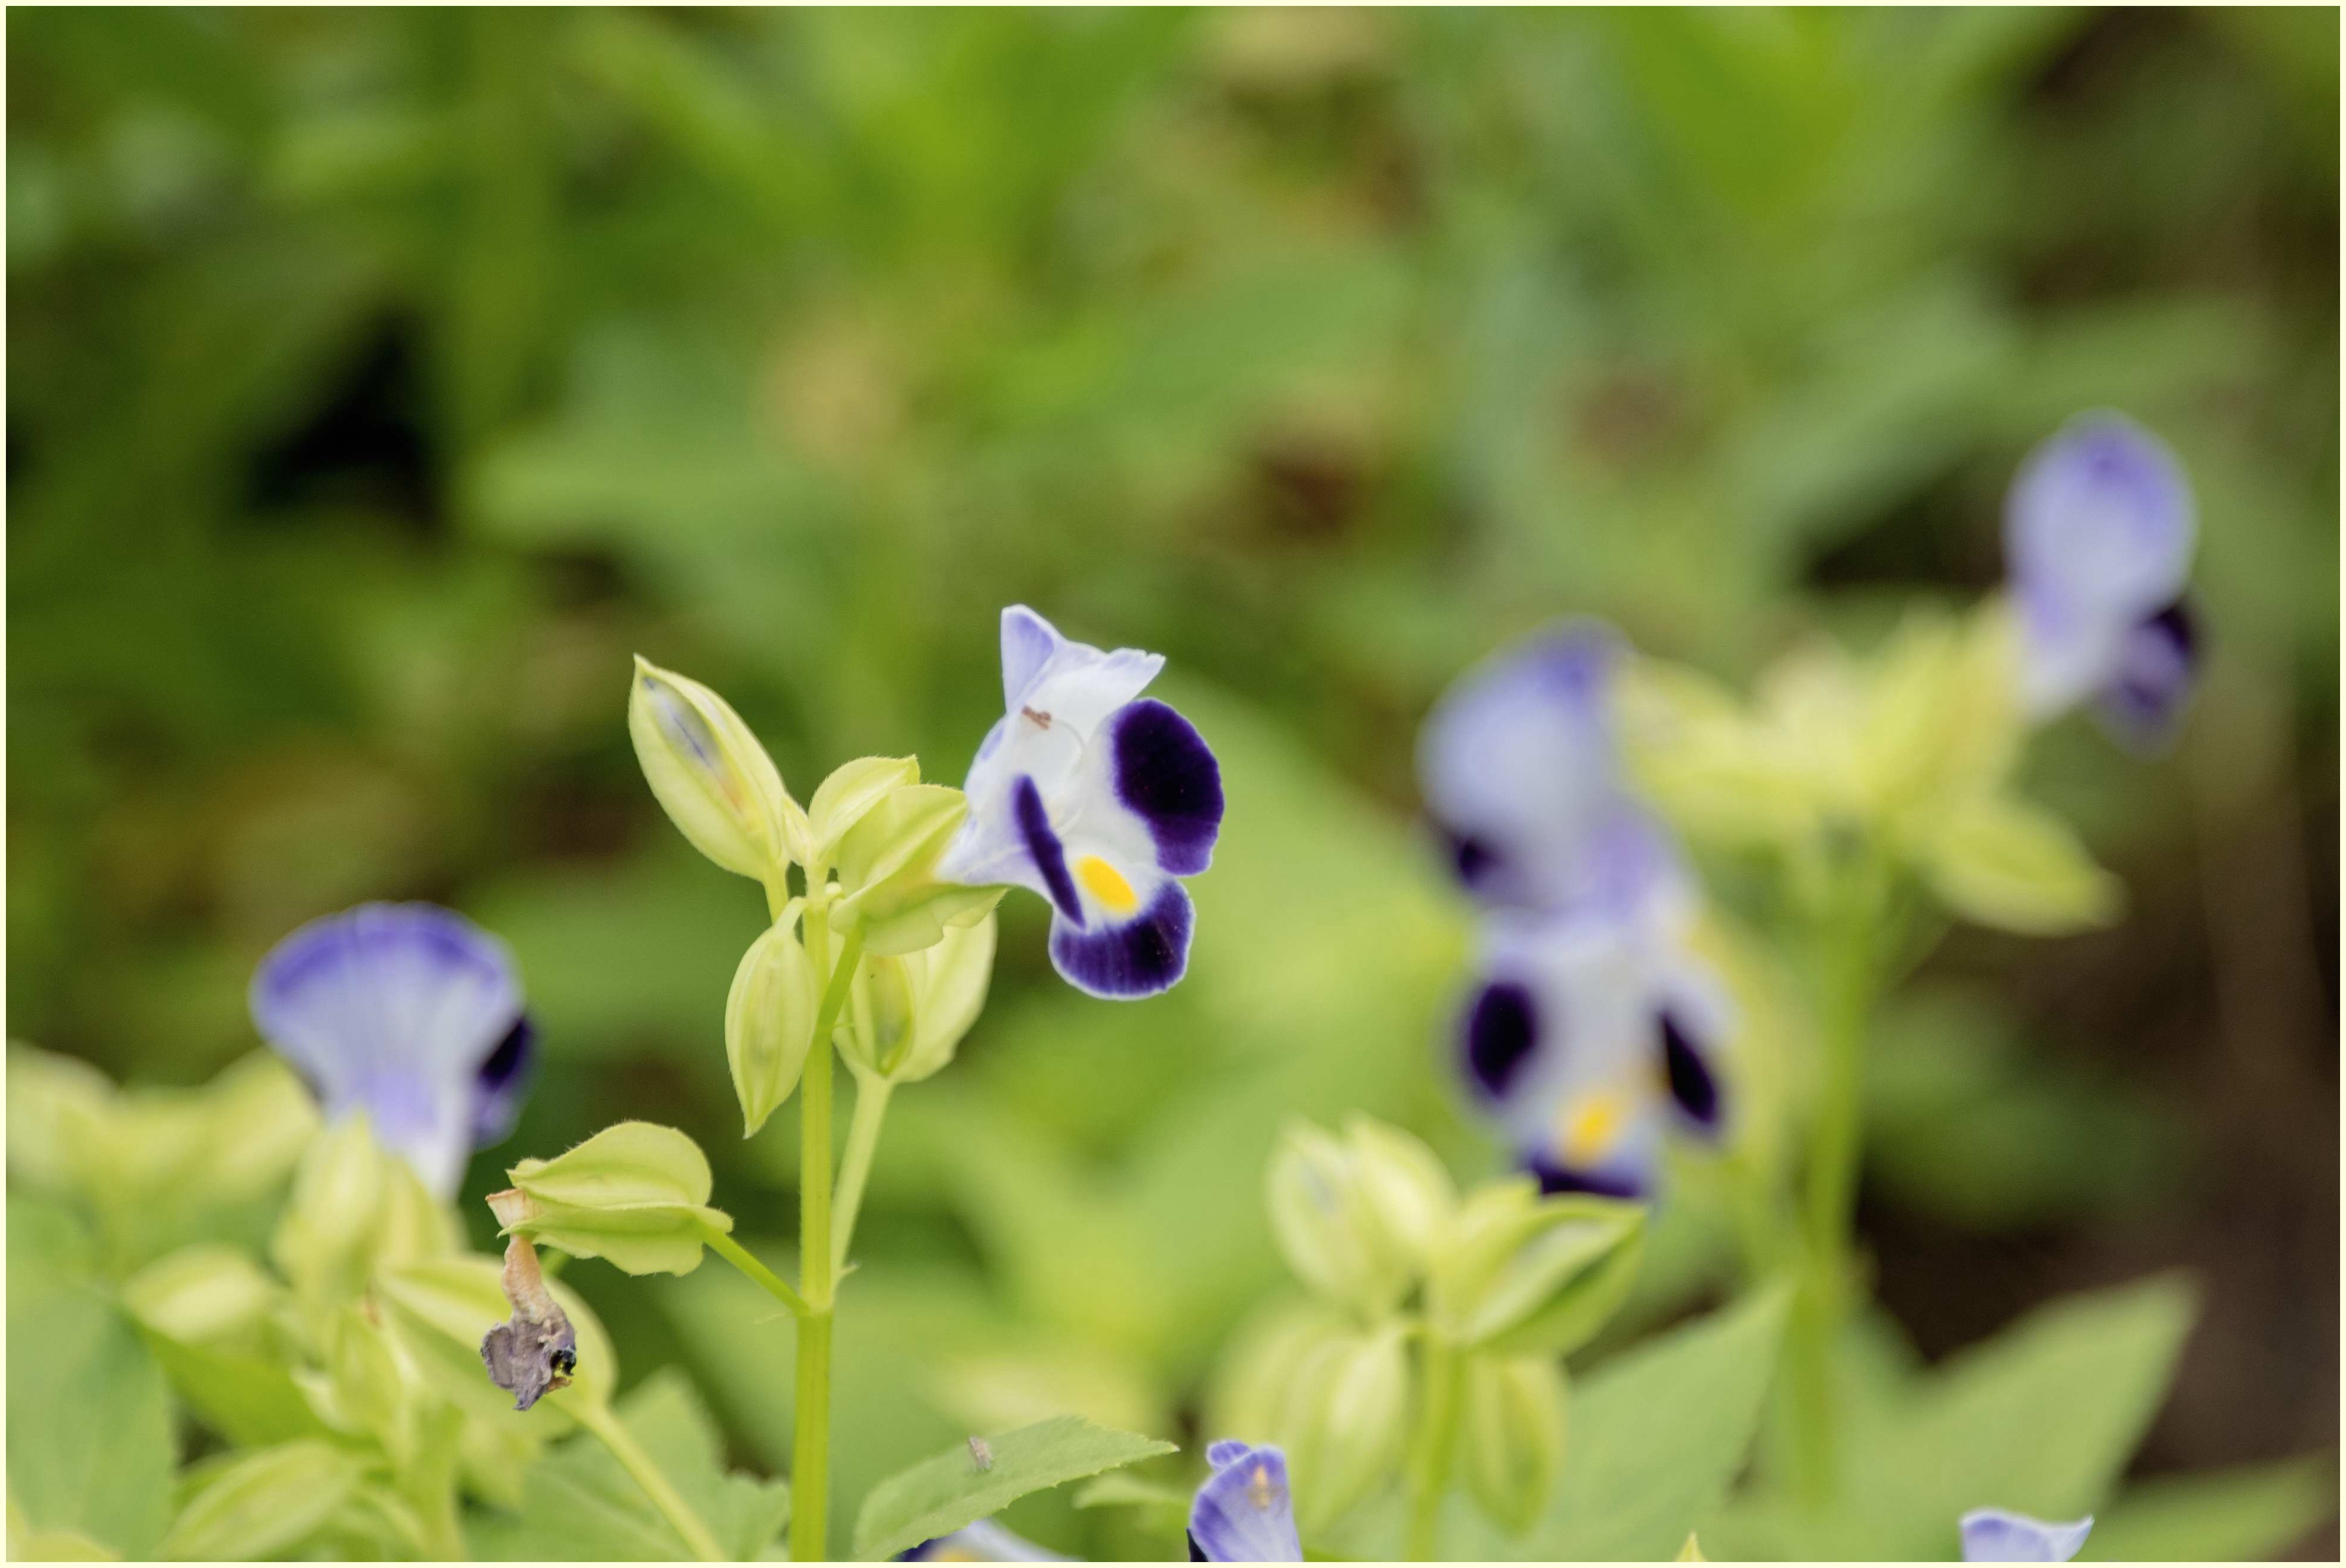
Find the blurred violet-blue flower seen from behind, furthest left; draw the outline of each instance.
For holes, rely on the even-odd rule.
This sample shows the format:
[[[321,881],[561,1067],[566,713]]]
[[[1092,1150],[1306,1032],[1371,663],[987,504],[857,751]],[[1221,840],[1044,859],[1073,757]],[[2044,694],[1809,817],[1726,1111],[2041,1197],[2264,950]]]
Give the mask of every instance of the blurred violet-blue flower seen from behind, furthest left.
[[[432,904],[361,904],[279,941],[251,986],[253,1026],[338,1120],[375,1138],[439,1197],[465,1157],[514,1129],[533,1040],[502,941]]]

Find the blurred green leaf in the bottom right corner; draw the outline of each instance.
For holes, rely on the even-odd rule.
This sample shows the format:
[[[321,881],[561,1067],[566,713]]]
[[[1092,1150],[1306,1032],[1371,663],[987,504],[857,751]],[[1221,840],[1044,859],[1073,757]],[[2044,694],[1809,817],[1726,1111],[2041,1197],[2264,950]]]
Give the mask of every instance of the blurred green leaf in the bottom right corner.
[[[2269,1561],[2337,1514],[2337,1458],[2327,1453],[2144,1481],[2118,1493],[2079,1559]]]

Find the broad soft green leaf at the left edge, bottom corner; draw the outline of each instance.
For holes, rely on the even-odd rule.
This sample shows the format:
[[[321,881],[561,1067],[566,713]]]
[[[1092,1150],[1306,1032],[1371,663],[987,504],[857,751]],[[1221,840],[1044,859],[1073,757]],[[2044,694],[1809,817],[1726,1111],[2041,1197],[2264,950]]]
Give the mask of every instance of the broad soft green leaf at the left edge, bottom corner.
[[[171,1516],[171,1415],[138,1331],[89,1279],[70,1214],[9,1197],[7,1481],[35,1530],[152,1556]]]

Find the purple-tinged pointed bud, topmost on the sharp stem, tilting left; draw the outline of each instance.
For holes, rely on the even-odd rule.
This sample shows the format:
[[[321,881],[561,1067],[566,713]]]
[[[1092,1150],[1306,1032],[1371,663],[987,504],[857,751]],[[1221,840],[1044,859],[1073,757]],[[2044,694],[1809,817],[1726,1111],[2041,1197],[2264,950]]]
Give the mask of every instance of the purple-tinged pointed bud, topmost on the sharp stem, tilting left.
[[[636,660],[626,732],[643,777],[692,847],[758,883],[805,859],[807,817],[741,716],[699,681]]]

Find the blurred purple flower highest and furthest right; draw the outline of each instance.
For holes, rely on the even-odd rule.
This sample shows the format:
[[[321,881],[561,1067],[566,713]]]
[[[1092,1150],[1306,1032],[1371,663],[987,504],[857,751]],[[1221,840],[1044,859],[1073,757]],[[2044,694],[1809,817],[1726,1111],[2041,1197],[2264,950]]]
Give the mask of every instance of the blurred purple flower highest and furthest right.
[[[2198,664],[2194,533],[2175,453],[2123,415],[2079,415],[2029,453],[2003,502],[2003,554],[2032,718],[2090,699],[2118,739],[2165,737]]]

